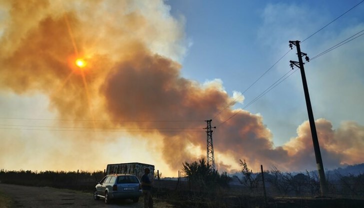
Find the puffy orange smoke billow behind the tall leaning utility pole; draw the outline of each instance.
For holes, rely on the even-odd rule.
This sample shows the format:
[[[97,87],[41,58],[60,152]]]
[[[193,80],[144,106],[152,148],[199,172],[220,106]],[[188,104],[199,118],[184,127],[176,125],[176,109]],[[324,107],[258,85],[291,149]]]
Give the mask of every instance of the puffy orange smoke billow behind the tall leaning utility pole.
[[[346,121],[335,130],[330,121],[320,118],[315,121],[324,167],[337,167],[343,164],[362,162],[359,151],[364,147],[364,126]],[[283,149],[288,152],[291,161],[287,168],[297,169],[306,166],[314,169],[315,161],[309,122],[303,122],[297,128],[297,137],[291,138]]]

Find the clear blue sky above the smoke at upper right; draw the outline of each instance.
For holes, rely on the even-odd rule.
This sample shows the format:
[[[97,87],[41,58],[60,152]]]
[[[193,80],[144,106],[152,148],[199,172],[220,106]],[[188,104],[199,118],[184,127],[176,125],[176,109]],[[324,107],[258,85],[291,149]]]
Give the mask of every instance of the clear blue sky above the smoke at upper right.
[[[184,16],[186,41],[190,46],[181,61],[183,76],[199,82],[219,78],[230,95],[234,90],[245,91],[287,52],[288,40],[307,38],[358,2],[360,1],[166,1],[171,6],[173,16]],[[301,50],[313,57],[355,31],[360,31],[363,28],[363,11],[362,4],[353,8],[305,40],[301,44]],[[356,30],[351,30],[352,28]],[[335,126],[343,120],[364,123],[359,113],[363,108],[358,104],[363,101],[363,95],[351,91],[349,86],[342,87],[351,83],[351,78],[358,81],[359,88],[355,90],[363,87],[362,69],[350,68],[352,59],[354,62],[362,62],[362,50],[356,48],[357,53],[350,53],[352,59],[345,57],[345,51],[355,49],[355,45],[362,45],[362,42],[362,37],[359,37],[305,65],[315,118],[327,118]],[[234,107],[244,107],[289,71],[289,60],[297,60],[295,53],[293,49],[284,56],[243,94],[244,103]],[[330,70],[332,58],[348,67]],[[336,76],[335,73],[342,75]],[[325,88],[332,92],[329,93]],[[273,133],[275,145],[281,145],[295,136],[296,127],[307,120],[299,71],[246,109],[263,116],[264,123]]]

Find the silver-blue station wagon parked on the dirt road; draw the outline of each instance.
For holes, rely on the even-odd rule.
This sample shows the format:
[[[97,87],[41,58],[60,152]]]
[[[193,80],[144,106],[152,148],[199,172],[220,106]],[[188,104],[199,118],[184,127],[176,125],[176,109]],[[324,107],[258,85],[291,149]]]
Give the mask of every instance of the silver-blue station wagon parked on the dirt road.
[[[130,198],[138,202],[141,195],[139,179],[132,174],[109,174],[98,181],[93,191],[93,199],[104,198],[105,203],[111,199]]]

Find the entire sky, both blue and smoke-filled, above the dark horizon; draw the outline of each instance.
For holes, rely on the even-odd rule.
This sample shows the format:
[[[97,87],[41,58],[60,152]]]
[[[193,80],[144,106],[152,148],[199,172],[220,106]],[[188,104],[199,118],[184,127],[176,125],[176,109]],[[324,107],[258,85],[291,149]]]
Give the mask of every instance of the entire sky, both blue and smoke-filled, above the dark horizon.
[[[206,156],[212,119],[218,171],[314,170],[289,40],[310,57],[324,168],[362,163],[363,13],[361,0],[0,0],[0,169],[176,176]]]

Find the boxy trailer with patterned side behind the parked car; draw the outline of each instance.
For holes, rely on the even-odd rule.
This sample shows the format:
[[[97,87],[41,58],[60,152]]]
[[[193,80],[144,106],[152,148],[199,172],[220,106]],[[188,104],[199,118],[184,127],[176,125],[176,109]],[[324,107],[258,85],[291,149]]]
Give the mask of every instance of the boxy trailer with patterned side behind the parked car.
[[[107,164],[106,174],[133,174],[136,175],[139,180],[144,174],[144,168],[148,167],[150,169],[149,178],[153,180],[154,178],[154,165],[144,164],[139,162],[128,162],[128,163],[118,163],[118,164]]]

